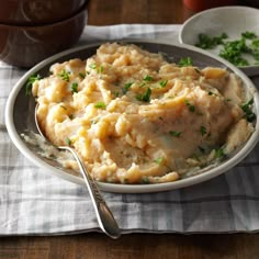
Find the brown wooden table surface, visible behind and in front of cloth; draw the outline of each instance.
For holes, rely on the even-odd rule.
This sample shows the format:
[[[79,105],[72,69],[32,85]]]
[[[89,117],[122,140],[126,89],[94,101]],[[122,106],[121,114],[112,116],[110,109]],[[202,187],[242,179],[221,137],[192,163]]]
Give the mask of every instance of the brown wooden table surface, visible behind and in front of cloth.
[[[194,12],[181,0],[91,0],[88,23],[182,23]],[[131,234],[111,240],[89,233],[53,237],[1,237],[0,259],[250,259],[259,258],[259,235]]]

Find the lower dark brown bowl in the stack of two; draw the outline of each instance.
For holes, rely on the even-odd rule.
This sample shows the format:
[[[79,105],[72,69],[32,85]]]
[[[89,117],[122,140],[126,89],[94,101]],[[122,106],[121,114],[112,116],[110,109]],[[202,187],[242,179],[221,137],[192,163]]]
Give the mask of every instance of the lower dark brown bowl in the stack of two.
[[[0,24],[0,59],[18,67],[32,67],[71,47],[87,21],[87,3],[69,19],[42,26]]]

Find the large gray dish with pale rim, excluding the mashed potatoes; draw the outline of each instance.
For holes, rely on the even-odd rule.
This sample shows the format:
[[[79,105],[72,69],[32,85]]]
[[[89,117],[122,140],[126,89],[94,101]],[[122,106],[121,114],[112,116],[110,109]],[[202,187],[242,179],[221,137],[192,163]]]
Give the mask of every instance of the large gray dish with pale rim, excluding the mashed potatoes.
[[[154,41],[127,41],[128,43],[134,43],[142,46],[144,49],[147,49],[153,53],[165,53],[171,61],[178,63],[182,57],[191,57],[194,61],[194,65],[198,67],[206,67],[206,66],[216,66],[224,67],[229,69],[230,71],[239,75],[240,79],[244,82],[244,90],[248,95],[254,95],[255,102],[255,113],[258,116],[259,114],[259,94],[257,92],[254,83],[247,78],[245,74],[238,70],[233,65],[224,61],[221,58],[216,58],[211,56],[210,54],[202,52],[198,48],[193,48],[191,46],[183,45],[169,45],[161,44],[159,42]],[[29,77],[33,74],[40,74],[41,76],[47,76],[49,66],[54,63],[63,63],[65,60],[69,60],[75,57],[80,57],[86,59],[93,54],[95,54],[97,48],[100,44],[87,45],[74,49],[69,49],[57,54],[34,68],[27,71],[14,86],[12,92],[9,95],[9,100],[5,109],[5,123],[8,127],[8,132],[10,134],[11,139],[16,145],[16,147],[21,150],[21,153],[26,156],[31,161],[33,161],[38,167],[42,167],[52,174],[56,174],[61,179],[66,179],[68,181],[85,184],[83,180],[75,174],[75,171],[69,171],[68,169],[60,168],[55,160],[46,159],[38,155],[35,146],[27,145],[24,139],[21,137],[21,134],[26,131],[32,131],[37,133],[34,122],[34,110],[35,110],[35,100],[32,97],[26,97],[25,85]],[[24,114],[26,115],[26,120],[24,120]],[[212,168],[205,168],[204,171],[200,174],[182,179],[174,182],[168,183],[156,183],[156,184],[114,184],[114,183],[103,183],[100,182],[99,185],[104,191],[111,192],[124,192],[124,193],[140,193],[140,192],[158,192],[166,191],[172,189],[179,189],[183,187],[189,187],[192,184],[196,184],[199,182],[209,180],[214,178],[226,170],[233,168],[239,161],[241,161],[256,146],[259,139],[259,120],[255,122],[256,131],[252,133],[250,138],[236,150],[234,154],[229,155],[227,159],[222,161],[219,165],[216,165]]]

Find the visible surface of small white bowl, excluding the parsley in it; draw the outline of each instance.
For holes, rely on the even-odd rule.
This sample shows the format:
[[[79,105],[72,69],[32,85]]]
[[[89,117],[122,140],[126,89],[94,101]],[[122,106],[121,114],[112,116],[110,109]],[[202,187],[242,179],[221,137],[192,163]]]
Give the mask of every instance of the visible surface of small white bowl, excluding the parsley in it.
[[[180,43],[195,45],[201,33],[210,36],[218,36],[222,33],[228,35],[228,40],[238,40],[243,32],[254,32],[259,36],[259,10],[249,7],[223,7],[213,8],[187,20],[180,31]],[[206,49],[218,55],[218,48]],[[259,74],[259,66],[239,67],[248,76]]]

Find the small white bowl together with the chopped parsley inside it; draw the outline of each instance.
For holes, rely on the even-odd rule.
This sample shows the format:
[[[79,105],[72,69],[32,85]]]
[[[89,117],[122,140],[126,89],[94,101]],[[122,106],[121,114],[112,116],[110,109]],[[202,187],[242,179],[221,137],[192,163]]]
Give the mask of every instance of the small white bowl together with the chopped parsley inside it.
[[[248,76],[259,74],[259,10],[223,7],[200,12],[183,23],[180,43],[223,57]]]

